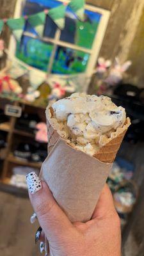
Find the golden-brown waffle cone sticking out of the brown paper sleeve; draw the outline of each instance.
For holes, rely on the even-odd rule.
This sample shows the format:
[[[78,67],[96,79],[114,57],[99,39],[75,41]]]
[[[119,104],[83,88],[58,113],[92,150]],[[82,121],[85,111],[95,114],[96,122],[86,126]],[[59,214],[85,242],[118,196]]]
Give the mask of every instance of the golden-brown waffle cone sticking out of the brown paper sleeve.
[[[47,133],[48,133],[48,153],[50,153],[52,150],[52,147],[54,147],[54,145],[60,138],[60,134],[58,134],[56,129],[54,129],[54,127],[52,127],[51,123],[49,122],[50,116],[47,115],[48,110],[49,109],[47,109],[46,111],[46,116],[47,116]],[[50,111],[52,114],[52,108],[50,108]],[[103,163],[113,163],[129,125],[131,125],[131,121],[128,117],[125,121],[124,126],[118,127],[116,132],[113,132],[111,134],[111,138],[106,138],[105,136],[102,136],[102,140],[101,140],[102,145],[99,151],[97,152],[97,154],[95,154],[93,157],[97,158],[99,161]]]

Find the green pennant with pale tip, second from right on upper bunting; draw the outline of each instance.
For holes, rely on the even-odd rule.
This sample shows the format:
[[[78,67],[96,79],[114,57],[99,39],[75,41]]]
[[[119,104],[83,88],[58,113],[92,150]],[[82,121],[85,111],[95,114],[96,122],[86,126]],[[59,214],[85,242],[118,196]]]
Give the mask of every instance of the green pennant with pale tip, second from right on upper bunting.
[[[52,8],[49,10],[48,15],[51,19],[56,23],[58,28],[65,28],[65,11],[67,6],[65,4],[61,4],[56,8]]]

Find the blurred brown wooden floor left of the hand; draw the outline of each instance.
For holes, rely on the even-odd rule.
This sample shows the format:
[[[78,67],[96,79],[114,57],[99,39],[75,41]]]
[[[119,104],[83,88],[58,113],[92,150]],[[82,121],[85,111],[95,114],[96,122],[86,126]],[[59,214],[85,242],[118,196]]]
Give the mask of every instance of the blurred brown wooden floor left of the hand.
[[[34,239],[38,223],[29,223],[32,212],[28,198],[0,192],[0,256],[40,255]]]

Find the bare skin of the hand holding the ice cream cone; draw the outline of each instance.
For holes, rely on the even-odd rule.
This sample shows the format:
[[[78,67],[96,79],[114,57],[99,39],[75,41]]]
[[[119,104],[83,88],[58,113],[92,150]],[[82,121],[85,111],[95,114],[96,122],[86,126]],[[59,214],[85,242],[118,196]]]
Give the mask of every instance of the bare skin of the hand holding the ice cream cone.
[[[49,241],[52,256],[120,256],[120,219],[106,184],[93,212],[86,223],[71,223],[54,200],[47,184],[34,195],[31,204]]]

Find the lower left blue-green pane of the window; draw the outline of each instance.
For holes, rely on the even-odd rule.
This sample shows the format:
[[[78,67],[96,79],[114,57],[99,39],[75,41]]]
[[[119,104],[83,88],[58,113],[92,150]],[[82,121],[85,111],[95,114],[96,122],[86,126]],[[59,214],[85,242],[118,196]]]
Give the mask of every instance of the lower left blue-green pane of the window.
[[[16,56],[32,67],[47,71],[53,45],[24,36],[22,44],[17,44]]]

